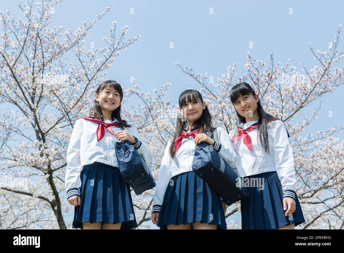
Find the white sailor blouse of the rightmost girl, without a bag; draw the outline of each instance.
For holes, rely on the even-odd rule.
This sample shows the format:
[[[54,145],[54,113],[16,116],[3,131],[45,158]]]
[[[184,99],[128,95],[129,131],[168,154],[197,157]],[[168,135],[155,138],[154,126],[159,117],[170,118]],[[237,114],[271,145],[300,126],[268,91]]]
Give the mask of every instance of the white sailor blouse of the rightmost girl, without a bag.
[[[258,124],[258,120],[242,123],[240,129],[246,129]],[[247,131],[251,138],[252,149],[243,142],[243,136],[233,140],[235,152],[238,155],[237,169],[241,177],[256,175],[259,173],[276,171],[281,181],[283,198],[289,197],[295,200],[297,181],[295,178],[294,158],[289,142],[289,133],[282,120],[269,122],[271,130],[267,126],[270,154],[267,154],[257,139],[257,128]],[[235,129],[229,133],[232,140]]]

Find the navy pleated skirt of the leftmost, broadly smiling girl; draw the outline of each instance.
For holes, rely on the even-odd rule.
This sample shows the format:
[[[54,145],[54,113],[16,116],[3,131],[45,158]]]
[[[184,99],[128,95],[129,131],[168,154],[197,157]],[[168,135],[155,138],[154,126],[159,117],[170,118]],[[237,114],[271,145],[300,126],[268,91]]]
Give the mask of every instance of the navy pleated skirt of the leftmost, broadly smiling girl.
[[[83,167],[80,174],[81,202],[75,207],[73,228],[83,222],[119,223],[121,229],[137,228],[130,186],[118,167],[94,162]]]

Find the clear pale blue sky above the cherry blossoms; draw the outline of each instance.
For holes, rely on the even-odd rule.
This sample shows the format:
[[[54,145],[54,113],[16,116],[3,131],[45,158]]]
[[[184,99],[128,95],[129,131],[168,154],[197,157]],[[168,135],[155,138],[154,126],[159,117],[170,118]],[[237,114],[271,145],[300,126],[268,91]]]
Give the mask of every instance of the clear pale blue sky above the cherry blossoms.
[[[19,16],[20,10],[14,2],[2,0],[0,11],[6,11],[10,6],[11,12]],[[109,37],[113,20],[119,27],[128,25],[128,37],[137,34],[142,37],[128,50],[121,51],[112,69],[107,71],[108,78],[128,88],[133,86],[129,80],[134,76],[143,92],[152,92],[169,82],[172,85],[166,98],[173,104],[177,104],[179,94],[186,87],[200,89],[174,65],[175,62],[188,65],[197,73],[207,72],[214,80],[226,74],[226,67],[233,63],[237,66],[236,77],[243,76],[247,51],[263,62],[268,63],[269,55],[273,53],[275,61],[280,61],[281,65],[291,58],[291,65],[296,66],[297,71],[301,71],[299,62],[310,69],[319,63],[314,60],[308,43],[312,43],[314,51],[328,50],[338,25],[344,23],[342,1],[326,4],[324,1],[99,0],[95,4],[95,1],[69,0],[55,7],[51,28],[63,25],[65,30],[76,30],[83,21],[92,20],[97,12],[102,12],[110,4],[114,9],[89,32],[87,45],[94,42],[96,48],[105,46],[101,38]],[[130,14],[130,8],[133,8],[133,14]],[[214,14],[209,14],[209,8],[213,8]],[[293,8],[293,14],[289,14],[289,8]],[[170,42],[174,44],[173,49]],[[253,42],[253,48],[249,48],[250,42]],[[343,51],[343,44],[342,39],[338,50]],[[343,68],[343,61],[337,66]],[[318,120],[306,128],[304,134],[344,125],[339,102],[343,94],[344,87],[340,87],[322,98],[323,109]],[[319,99],[302,113],[310,115],[318,105]],[[329,110],[332,110],[333,117],[328,116]],[[343,131],[336,136],[343,140]]]

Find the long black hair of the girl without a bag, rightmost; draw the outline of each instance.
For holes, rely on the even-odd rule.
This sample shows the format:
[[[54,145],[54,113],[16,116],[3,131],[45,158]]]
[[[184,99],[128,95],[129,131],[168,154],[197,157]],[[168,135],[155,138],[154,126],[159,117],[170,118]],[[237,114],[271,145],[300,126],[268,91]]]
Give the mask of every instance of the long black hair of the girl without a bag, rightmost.
[[[232,104],[234,106],[235,101],[244,95],[252,94],[252,96],[256,95],[255,90],[246,82],[241,82],[232,87],[230,90],[230,101],[232,101]],[[235,106],[234,106],[235,108]],[[276,119],[273,115],[266,113],[263,109],[263,107],[260,104],[260,99],[257,102],[257,112],[258,112],[258,127],[257,127],[257,141],[259,136],[259,141],[261,144],[263,143],[263,147],[265,152],[270,153],[269,150],[269,141],[268,141],[268,131],[267,126],[269,129],[271,129],[270,124],[268,125],[268,120],[270,119]],[[246,123],[246,118],[241,116],[237,111],[237,116],[239,118],[239,124]],[[275,122],[271,122],[271,125],[275,124]]]

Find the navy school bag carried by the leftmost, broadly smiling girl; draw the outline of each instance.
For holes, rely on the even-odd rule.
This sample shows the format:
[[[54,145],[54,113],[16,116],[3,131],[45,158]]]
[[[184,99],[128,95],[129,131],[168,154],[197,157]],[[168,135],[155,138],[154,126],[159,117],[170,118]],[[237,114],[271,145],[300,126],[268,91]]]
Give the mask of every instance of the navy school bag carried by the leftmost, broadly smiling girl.
[[[127,130],[127,128],[121,125],[121,130]],[[117,141],[115,149],[119,170],[136,195],[140,195],[142,192],[156,186],[146,162],[129,141]]]

